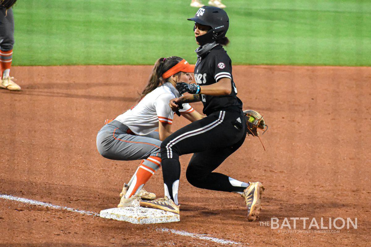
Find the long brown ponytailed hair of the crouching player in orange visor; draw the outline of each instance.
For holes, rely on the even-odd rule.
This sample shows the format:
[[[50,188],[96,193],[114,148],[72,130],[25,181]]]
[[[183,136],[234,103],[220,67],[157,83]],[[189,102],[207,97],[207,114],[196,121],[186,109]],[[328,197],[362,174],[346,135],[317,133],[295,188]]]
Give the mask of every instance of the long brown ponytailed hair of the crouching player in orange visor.
[[[183,60],[181,57],[176,56],[168,58],[161,57],[160,59],[157,59],[155,66],[152,69],[150,79],[148,80],[148,84],[142,91],[140,98],[142,99],[148,93],[151,93],[157,87],[164,84],[165,81],[162,79],[162,74],[174,67],[175,64],[179,63],[181,60]]]

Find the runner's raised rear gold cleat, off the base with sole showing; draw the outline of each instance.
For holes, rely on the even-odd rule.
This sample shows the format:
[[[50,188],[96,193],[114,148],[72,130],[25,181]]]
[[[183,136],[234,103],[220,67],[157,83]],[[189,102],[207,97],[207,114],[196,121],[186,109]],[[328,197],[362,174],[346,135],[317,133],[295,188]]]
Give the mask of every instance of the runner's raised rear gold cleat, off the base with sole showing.
[[[248,221],[254,221],[259,217],[260,209],[262,208],[261,199],[265,188],[260,182],[250,182],[249,187],[243,190],[242,197],[245,198],[247,207]]]

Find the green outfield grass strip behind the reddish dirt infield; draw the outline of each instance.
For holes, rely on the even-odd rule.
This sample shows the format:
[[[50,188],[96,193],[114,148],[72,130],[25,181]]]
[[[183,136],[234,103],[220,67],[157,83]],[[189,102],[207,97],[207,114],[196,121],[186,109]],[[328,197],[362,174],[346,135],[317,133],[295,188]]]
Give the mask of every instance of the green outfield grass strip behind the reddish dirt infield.
[[[207,0],[203,0],[207,3]],[[13,65],[194,63],[190,0],[23,0]],[[368,0],[224,0],[234,64],[371,65]]]

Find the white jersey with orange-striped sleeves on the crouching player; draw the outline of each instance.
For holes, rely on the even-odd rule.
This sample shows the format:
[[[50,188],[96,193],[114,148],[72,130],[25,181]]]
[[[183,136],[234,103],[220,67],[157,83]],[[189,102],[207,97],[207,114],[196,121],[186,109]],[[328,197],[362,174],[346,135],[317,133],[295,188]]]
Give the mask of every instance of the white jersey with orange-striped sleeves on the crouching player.
[[[174,88],[175,89],[175,88]],[[125,113],[116,117],[115,120],[125,124],[134,134],[145,136],[158,128],[158,121],[172,124],[174,112],[169,106],[169,101],[174,99],[175,94],[166,85],[148,93],[136,105]],[[187,103],[183,104],[180,113],[191,113],[194,109]]]

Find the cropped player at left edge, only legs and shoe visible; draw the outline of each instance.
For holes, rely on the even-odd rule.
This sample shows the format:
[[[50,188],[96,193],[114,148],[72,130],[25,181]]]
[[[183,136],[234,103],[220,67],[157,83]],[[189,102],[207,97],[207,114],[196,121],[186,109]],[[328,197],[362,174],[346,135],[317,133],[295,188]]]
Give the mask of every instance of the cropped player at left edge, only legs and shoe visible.
[[[16,0],[0,0],[0,87],[19,91],[21,87],[10,77],[14,45],[14,18],[12,6]]]

